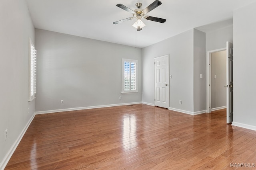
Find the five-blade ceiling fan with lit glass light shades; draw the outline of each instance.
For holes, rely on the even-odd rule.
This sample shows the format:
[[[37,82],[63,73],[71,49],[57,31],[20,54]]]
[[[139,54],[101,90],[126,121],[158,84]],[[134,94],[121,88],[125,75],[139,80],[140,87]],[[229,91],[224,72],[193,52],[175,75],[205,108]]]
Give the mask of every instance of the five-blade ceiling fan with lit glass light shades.
[[[137,31],[142,30],[142,27],[146,26],[143,22],[142,22],[142,18],[146,19],[146,20],[150,20],[150,21],[156,21],[156,22],[160,22],[160,23],[164,23],[166,21],[166,19],[162,19],[162,18],[156,18],[156,17],[152,17],[152,16],[146,16],[146,14],[148,12],[150,12],[151,10],[154,10],[156,7],[160,6],[162,4],[161,1],[159,0],[155,0],[152,4],[150,4],[148,7],[146,7],[144,10],[141,9],[142,7],[142,3],[138,2],[136,3],[136,7],[138,9],[136,10],[131,10],[130,8],[124,6],[123,4],[116,4],[117,7],[122,8],[123,10],[126,10],[127,12],[130,12],[133,17],[130,18],[126,18],[123,20],[119,20],[116,22],[113,22],[114,24],[118,24],[124,21],[128,21],[128,20],[132,20],[133,18],[136,18],[136,22],[132,25],[133,27],[137,28]]]

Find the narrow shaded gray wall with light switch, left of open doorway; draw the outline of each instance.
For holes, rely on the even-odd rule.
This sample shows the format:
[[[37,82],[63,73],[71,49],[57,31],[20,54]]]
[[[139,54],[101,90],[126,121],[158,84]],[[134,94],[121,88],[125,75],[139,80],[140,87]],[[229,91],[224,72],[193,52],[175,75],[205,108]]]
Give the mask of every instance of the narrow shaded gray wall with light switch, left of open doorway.
[[[206,34],[194,29],[194,112],[206,109]],[[202,74],[202,78],[200,78]]]

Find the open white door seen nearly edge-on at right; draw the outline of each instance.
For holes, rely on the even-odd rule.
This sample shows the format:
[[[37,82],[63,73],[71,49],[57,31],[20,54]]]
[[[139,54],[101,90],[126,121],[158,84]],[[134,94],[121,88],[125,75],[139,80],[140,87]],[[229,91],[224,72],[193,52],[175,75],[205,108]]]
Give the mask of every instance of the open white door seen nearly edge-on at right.
[[[227,123],[233,121],[233,44],[227,42]]]

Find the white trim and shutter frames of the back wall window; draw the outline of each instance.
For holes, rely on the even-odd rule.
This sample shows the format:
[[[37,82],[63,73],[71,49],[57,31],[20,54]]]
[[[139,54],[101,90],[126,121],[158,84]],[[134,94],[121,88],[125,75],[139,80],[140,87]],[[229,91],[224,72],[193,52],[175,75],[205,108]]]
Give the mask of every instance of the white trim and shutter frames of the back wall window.
[[[136,63],[136,90],[131,90],[131,85],[130,85],[130,90],[124,90],[124,62],[133,62]],[[131,72],[130,72],[131,75]],[[132,60],[132,59],[122,59],[122,90],[121,94],[138,94],[138,60]]]

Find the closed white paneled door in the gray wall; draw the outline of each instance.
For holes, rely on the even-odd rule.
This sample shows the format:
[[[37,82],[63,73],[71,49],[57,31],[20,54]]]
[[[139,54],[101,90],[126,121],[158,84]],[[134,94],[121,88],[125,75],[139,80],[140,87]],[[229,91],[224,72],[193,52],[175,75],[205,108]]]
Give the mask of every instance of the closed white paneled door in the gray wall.
[[[155,58],[155,106],[169,107],[169,55]]]

